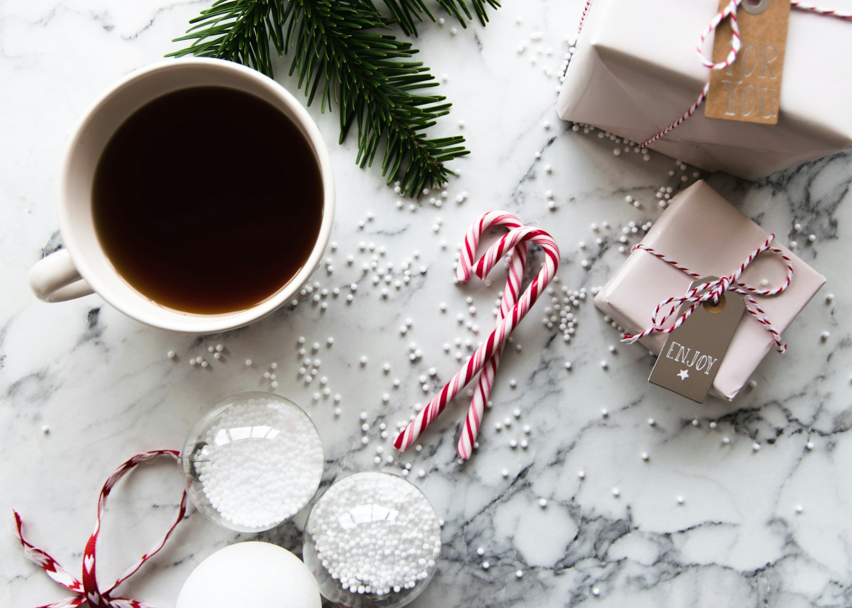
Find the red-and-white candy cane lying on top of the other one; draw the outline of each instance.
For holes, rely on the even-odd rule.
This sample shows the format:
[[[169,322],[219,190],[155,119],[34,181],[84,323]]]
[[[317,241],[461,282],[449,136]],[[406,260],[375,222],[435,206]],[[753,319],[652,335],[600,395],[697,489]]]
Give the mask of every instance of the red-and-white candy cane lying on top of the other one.
[[[524,291],[515,303],[515,306],[509,310],[506,317],[498,321],[497,327],[494,328],[486,338],[486,341],[482,342],[481,346],[470,356],[463,368],[458,370],[455,376],[452,376],[452,379],[446,383],[443,390],[435,395],[435,398],[415,416],[414,421],[397,436],[394,441],[394,446],[397,450],[406,451],[410,448],[420,434],[435,420],[435,417],[444,410],[446,404],[452,401],[468,385],[473,377],[480,372],[488,359],[492,358],[497,351],[497,348],[515,330],[517,324],[521,322],[521,318],[524,318],[530,307],[538,300],[538,296],[547,288],[550,279],[556,274],[556,269],[559,267],[559,247],[556,245],[553,237],[540,228],[520,227],[505,234],[503,238],[486,251],[485,255],[482,255],[474,267],[476,276],[485,278],[506,251],[527,242],[538,243],[544,250],[544,267],[533,278],[527,290]]]

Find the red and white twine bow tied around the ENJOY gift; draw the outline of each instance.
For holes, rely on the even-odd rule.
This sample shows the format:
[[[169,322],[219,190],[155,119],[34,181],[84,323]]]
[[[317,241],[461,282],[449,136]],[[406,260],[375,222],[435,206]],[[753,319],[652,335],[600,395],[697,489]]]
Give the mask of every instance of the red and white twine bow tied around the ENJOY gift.
[[[779,295],[783,293],[788,287],[790,287],[790,283],[793,278],[793,266],[790,257],[784,253],[783,250],[780,250],[778,247],[772,247],[771,244],[774,241],[775,235],[770,234],[769,238],[763,241],[760,247],[757,250],[754,250],[749,254],[748,257],[740,264],[734,272],[724,276],[722,278],[717,278],[713,281],[707,281],[705,283],[695,285],[690,288],[686,294],[681,295],[679,297],[670,297],[666,298],[664,301],[659,302],[657,307],[653,311],[653,315],[651,316],[651,327],[647,330],[643,330],[638,334],[624,334],[622,336],[622,341],[628,344],[632,344],[637,340],[642,340],[645,336],[649,336],[654,332],[659,332],[663,334],[669,334],[672,331],[676,330],[682,324],[686,322],[689,316],[694,313],[695,309],[704,304],[706,301],[712,301],[714,304],[719,302],[719,298],[726,291],[733,291],[736,294],[742,296],[743,300],[746,301],[746,312],[751,314],[752,317],[757,319],[757,323],[763,325],[763,329],[769,331],[769,334],[772,336],[772,340],[775,343],[775,348],[778,349],[779,353],[786,352],[787,345],[781,340],[781,334],[778,330],[774,328],[774,325],[769,321],[769,317],[767,317],[766,313],[763,312],[763,308],[761,308],[757,301],[754,299],[755,295]],[[648,247],[647,245],[643,245],[641,243],[633,245],[632,250],[643,250],[648,251],[649,254],[658,257],[660,260],[665,261],[666,264],[670,266],[676,267],[681,272],[685,272],[692,278],[700,278],[703,275],[698,272],[693,272],[689,270],[687,267],[678,264],[676,261],[672,260],[667,255],[663,255],[659,253],[659,251]],[[757,258],[758,255],[762,254],[764,251],[771,251],[774,254],[780,256],[782,260],[786,262],[787,267],[787,277],[783,284],[774,289],[766,289],[766,290],[758,290],[756,287],[752,287],[750,284],[746,284],[740,281],[740,275],[746,270],[749,264]],[[683,305],[689,303],[689,307],[684,310],[678,317],[675,322],[671,325],[664,327],[666,321],[671,318],[673,314]],[[668,307],[671,304],[671,307],[665,312],[665,314],[661,314],[665,307]]]

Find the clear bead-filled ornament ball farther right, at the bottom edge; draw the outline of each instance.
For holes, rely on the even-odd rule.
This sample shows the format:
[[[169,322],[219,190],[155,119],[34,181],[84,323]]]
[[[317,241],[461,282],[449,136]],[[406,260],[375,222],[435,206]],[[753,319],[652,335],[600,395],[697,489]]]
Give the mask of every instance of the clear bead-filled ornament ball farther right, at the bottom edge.
[[[351,608],[398,608],[435,574],[440,520],[406,479],[354,473],[320,496],[304,538],[302,557],[326,599]]]

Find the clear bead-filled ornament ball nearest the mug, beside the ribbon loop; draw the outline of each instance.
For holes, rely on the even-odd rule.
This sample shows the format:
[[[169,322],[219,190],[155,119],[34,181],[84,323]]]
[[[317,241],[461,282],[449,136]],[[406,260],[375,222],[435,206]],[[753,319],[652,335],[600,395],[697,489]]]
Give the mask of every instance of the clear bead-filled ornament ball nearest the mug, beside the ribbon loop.
[[[189,432],[181,452],[187,493],[233,531],[269,530],[316,494],[325,456],[308,414],[272,393],[224,399]]]

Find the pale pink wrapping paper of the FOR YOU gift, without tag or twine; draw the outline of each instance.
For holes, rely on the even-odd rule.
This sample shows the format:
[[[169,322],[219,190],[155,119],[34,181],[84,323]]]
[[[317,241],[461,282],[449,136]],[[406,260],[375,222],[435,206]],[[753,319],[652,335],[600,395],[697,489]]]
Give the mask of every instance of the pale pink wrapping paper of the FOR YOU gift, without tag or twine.
[[[852,12],[852,0],[820,5]],[[695,53],[718,0],[594,0],[556,110],[630,141],[686,112],[710,78]],[[749,180],[852,147],[852,22],[793,9],[778,124],[692,118],[650,146]],[[712,50],[711,40],[705,54]]]

